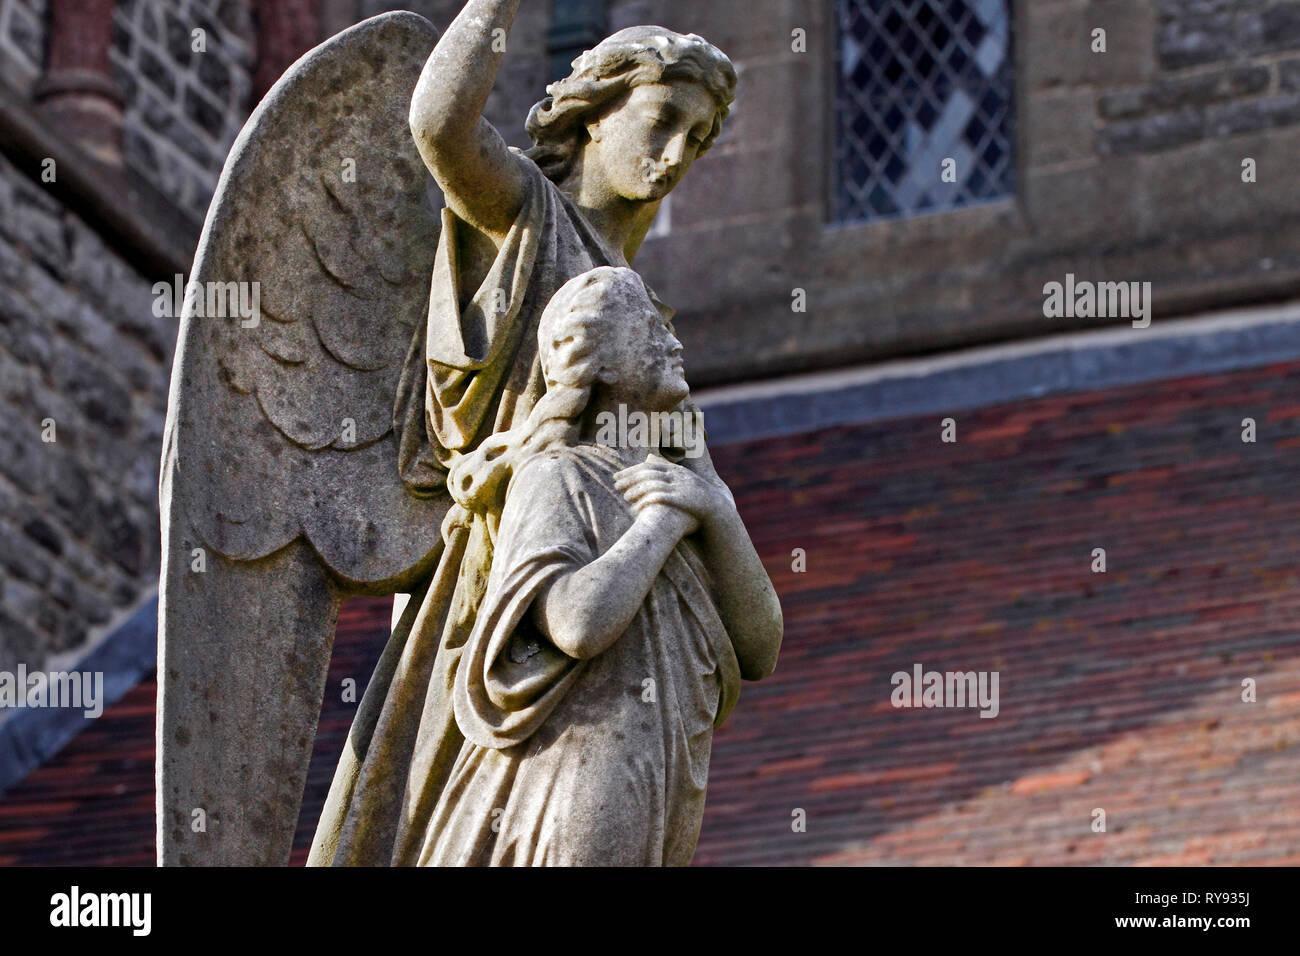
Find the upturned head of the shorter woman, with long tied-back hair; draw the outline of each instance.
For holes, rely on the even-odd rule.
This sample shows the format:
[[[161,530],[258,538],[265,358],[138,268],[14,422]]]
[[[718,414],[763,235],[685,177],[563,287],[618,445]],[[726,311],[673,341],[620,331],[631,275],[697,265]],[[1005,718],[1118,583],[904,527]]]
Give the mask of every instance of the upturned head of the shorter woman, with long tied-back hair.
[[[675,408],[688,394],[681,342],[641,277],[602,265],[551,297],[537,329],[546,394],[523,425],[489,436],[451,466],[447,486],[469,511],[499,507],[512,470],[555,445],[577,444],[582,423],[619,403],[628,411]]]

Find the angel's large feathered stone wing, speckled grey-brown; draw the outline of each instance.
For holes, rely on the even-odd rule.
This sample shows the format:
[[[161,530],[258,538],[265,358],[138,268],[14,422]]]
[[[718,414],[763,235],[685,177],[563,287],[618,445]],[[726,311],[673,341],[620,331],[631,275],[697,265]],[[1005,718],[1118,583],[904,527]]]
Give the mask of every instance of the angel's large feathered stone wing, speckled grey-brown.
[[[287,861],[338,602],[438,554],[448,499],[398,473],[438,229],[407,112],[436,42],[391,13],[304,55],[208,209],[160,489],[162,864]]]

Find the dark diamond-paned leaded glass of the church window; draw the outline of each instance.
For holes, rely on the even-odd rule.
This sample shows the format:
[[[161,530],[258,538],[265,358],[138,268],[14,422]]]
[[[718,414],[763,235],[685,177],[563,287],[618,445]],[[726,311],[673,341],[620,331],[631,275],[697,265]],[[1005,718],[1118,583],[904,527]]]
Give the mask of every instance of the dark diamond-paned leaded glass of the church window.
[[[1011,0],[835,0],[835,10],[831,217],[1010,195]]]

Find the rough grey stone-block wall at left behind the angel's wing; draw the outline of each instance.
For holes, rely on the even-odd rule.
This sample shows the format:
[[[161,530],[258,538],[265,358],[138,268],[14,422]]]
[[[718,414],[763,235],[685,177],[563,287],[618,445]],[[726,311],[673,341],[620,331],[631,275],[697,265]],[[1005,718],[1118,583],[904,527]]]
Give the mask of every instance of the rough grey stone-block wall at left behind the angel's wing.
[[[0,61],[20,92],[42,69],[47,4],[0,0]],[[338,22],[322,29],[406,7],[445,27],[460,4],[328,3]],[[547,4],[520,13],[489,104],[517,146],[547,79],[549,17]],[[192,220],[207,212],[254,105],[256,27],[252,0],[120,0],[113,13],[127,172]],[[195,29],[204,52],[192,49]],[[31,111],[42,120],[40,107]],[[9,423],[0,429],[0,670],[78,658],[157,587],[157,470],[176,323],[153,317],[151,287],[172,276],[139,265],[136,251],[78,215],[75,199],[70,208],[56,195],[39,163],[0,153],[0,415]],[[55,441],[42,440],[46,420]]]

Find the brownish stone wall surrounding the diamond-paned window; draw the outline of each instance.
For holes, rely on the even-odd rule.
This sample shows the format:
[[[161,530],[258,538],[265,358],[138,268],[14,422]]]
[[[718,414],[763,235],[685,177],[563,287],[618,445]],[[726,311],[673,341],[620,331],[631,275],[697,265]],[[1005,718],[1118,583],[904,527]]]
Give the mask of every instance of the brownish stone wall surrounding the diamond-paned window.
[[[741,72],[728,130],[637,261],[679,310],[697,386],[1098,324],[1043,316],[1066,273],[1150,281],[1157,321],[1300,294],[1300,3],[1015,3],[1014,198],[849,226],[827,212],[829,4],[619,8]]]

